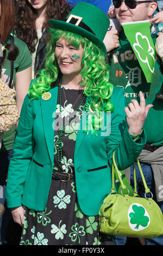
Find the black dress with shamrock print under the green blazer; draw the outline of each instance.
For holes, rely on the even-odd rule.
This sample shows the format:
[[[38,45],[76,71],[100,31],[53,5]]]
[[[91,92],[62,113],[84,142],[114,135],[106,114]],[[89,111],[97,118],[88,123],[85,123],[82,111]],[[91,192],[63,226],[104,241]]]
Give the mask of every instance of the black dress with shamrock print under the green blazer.
[[[74,175],[74,148],[85,101],[77,112],[76,109],[83,97],[83,90],[61,87],[61,117],[67,120],[66,118],[73,116],[73,119],[67,124],[64,121],[63,157],[59,163],[57,159],[59,137],[57,125],[60,113],[58,97],[53,172],[68,172]],[[115,242],[112,236],[99,232],[98,216],[86,216],[80,210],[75,179],[63,182],[52,178],[45,211],[37,212],[25,207],[20,245],[115,245]]]

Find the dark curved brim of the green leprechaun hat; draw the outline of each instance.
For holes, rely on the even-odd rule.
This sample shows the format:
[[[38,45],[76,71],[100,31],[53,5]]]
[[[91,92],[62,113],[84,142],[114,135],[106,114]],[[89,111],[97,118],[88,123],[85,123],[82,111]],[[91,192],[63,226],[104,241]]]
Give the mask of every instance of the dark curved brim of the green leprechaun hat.
[[[106,47],[100,39],[97,38],[96,35],[93,35],[91,32],[86,31],[84,28],[81,28],[79,26],[76,26],[72,23],[68,23],[65,21],[59,21],[59,20],[49,20],[53,28],[59,28],[64,31],[70,31],[79,35],[82,35],[83,37],[89,39],[92,41],[95,45],[97,45],[104,53],[107,54]]]

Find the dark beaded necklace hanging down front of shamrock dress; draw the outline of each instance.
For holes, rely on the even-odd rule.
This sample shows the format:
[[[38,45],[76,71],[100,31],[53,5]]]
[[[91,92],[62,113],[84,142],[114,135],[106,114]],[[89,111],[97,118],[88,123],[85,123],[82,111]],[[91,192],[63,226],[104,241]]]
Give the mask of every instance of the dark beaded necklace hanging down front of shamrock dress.
[[[80,108],[80,106],[82,105],[83,101],[85,100],[86,98],[86,95],[83,96],[83,99],[82,101],[79,103],[79,106],[77,107],[76,111],[74,111],[74,115],[71,117],[71,118],[68,118],[68,121],[62,125],[62,118],[61,118],[61,83],[62,83],[62,76],[61,76],[61,80],[60,80],[60,83],[59,83],[59,90],[58,90],[58,93],[59,93],[59,117],[60,117],[60,129],[58,130],[58,151],[57,151],[57,160],[59,163],[61,163],[62,159],[63,159],[63,153],[62,153],[62,137],[64,136],[64,133],[65,133],[65,125],[70,123],[71,120],[74,118],[74,115],[76,114],[76,112],[78,111],[78,109]]]

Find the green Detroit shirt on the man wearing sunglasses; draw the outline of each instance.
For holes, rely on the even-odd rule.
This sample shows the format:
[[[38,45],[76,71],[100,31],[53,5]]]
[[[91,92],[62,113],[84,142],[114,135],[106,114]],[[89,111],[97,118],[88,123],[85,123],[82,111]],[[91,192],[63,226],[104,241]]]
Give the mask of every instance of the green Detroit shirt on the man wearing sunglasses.
[[[163,145],[163,101],[155,99],[155,94],[159,92],[163,82],[159,59],[155,62],[153,82],[147,83],[126,35],[121,32],[120,47],[114,52],[110,65],[110,82],[115,86],[124,88],[126,106],[131,99],[140,101],[139,92],[144,93],[146,105],[154,105],[153,108],[149,109],[143,126],[147,134],[147,143]]]

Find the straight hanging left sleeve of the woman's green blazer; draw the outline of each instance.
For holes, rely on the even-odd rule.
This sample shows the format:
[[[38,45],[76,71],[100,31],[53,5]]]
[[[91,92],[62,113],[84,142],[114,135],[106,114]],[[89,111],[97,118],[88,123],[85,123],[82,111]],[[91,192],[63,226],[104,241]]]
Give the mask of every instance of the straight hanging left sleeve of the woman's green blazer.
[[[9,164],[7,190],[8,208],[21,206],[24,183],[33,156],[33,101],[26,95],[17,127],[13,157]]]

